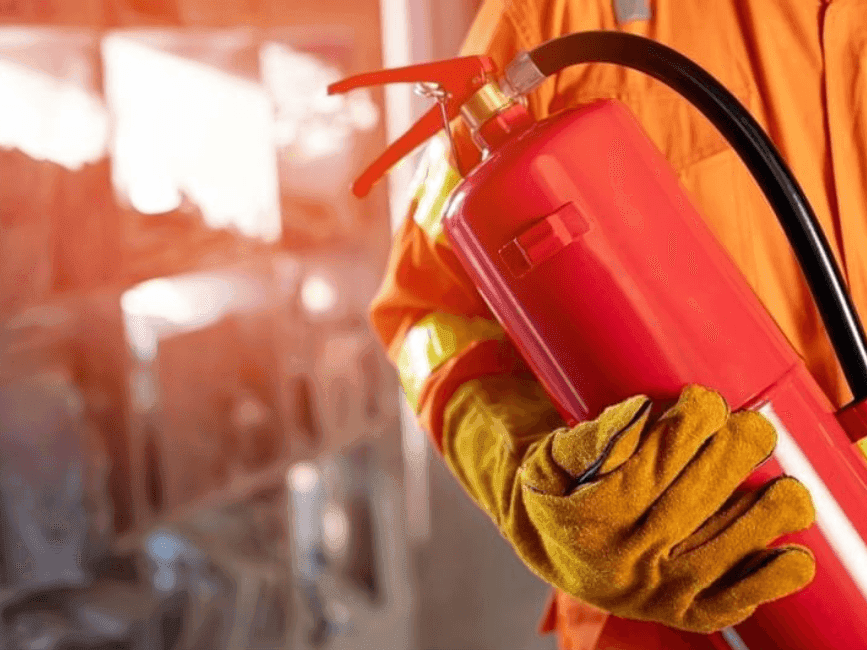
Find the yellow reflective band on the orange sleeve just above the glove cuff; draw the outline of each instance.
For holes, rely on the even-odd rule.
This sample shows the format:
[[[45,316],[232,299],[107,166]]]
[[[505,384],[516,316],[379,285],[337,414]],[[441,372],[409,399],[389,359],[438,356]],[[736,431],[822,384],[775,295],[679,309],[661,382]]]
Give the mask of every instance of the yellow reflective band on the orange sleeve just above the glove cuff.
[[[485,318],[454,314],[428,314],[406,334],[397,360],[400,383],[407,400],[418,410],[425,381],[446,361],[474,341],[503,338],[503,329]]]

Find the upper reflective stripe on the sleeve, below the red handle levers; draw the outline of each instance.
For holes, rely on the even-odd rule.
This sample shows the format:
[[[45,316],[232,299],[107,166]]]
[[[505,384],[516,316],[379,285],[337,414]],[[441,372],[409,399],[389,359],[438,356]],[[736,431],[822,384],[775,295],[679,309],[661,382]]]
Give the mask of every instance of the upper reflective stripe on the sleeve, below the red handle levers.
[[[449,162],[448,144],[445,136],[433,138],[424,153],[422,167],[424,181],[416,198],[413,219],[431,241],[446,243],[443,234],[443,208],[452,190],[461,181],[461,176]]]

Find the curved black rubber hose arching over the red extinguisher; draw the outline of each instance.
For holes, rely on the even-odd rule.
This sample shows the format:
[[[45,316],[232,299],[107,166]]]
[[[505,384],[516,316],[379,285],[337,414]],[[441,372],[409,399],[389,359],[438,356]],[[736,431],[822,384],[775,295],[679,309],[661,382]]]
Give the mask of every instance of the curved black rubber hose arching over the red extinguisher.
[[[578,63],[614,63],[658,79],[688,99],[752,172],[789,238],[855,396],[867,397],[867,340],[822,228],[776,147],[737,98],[682,54],[641,36],[579,32],[532,50],[545,76]]]

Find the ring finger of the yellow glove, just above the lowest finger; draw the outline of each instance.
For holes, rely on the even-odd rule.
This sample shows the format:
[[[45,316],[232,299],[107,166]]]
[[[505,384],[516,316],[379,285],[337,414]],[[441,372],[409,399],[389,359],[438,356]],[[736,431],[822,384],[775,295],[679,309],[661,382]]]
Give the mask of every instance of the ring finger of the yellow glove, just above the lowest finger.
[[[679,558],[690,572],[707,576],[707,582],[702,586],[711,584],[743,558],[764,550],[775,539],[812,525],[815,510],[810,493],[796,479],[779,478],[756,493],[757,499],[750,495],[741,499],[738,505],[749,504],[748,508],[730,518],[731,523],[719,534]],[[753,502],[750,504],[750,501]],[[733,507],[731,510],[736,512],[738,509]],[[715,522],[709,521],[708,524],[714,527]],[[696,532],[696,537],[707,537],[703,528]]]

